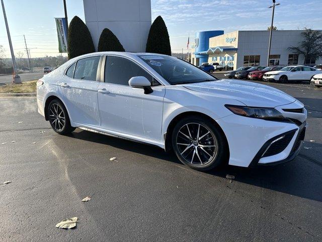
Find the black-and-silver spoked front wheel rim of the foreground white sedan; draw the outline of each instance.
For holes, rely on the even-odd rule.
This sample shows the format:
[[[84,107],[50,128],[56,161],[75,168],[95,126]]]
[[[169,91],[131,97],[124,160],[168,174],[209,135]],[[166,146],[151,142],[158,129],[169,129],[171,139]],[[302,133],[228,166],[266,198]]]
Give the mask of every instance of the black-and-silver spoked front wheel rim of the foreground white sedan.
[[[217,156],[216,137],[201,124],[189,123],[177,134],[176,145],[180,156],[196,166],[204,166]]]

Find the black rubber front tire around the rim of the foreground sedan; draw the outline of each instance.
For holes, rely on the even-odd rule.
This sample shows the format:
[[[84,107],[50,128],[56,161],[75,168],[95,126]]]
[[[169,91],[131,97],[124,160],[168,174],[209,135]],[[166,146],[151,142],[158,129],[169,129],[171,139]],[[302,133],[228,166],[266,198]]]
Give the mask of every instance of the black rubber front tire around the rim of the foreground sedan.
[[[195,165],[195,164],[191,164],[190,162],[187,162],[183,157],[181,157],[181,154],[178,150],[177,142],[176,142],[177,134],[178,134],[180,128],[188,123],[198,123],[200,125],[203,125],[217,139],[217,156],[214,157],[209,163],[207,163],[205,165]],[[225,138],[223,137],[221,132],[218,131],[218,128],[208,119],[204,119],[204,118],[201,118],[198,116],[189,116],[189,117],[185,117],[185,118],[181,119],[177,123],[177,125],[175,126],[175,128],[172,132],[171,139],[172,139],[173,150],[174,150],[175,154],[177,155],[177,157],[179,158],[179,160],[183,164],[188,165],[189,167],[196,169],[196,170],[213,169],[216,166],[219,166],[220,164],[225,162],[228,157],[227,156],[228,145],[227,145]]]

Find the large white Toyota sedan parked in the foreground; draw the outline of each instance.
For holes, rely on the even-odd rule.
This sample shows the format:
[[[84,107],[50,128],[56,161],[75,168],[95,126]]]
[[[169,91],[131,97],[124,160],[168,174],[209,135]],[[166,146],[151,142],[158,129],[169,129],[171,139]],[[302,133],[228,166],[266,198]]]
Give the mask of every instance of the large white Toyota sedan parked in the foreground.
[[[304,105],[282,91],[152,53],[70,59],[37,82],[37,103],[58,134],[79,128],[173,149],[198,170],[292,160],[306,127]]]

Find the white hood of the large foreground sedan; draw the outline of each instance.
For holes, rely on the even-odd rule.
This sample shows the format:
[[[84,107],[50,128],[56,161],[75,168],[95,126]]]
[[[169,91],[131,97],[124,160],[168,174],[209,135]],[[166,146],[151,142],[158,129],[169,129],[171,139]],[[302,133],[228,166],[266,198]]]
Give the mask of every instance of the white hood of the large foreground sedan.
[[[196,92],[235,99],[252,107],[276,107],[296,100],[276,88],[238,80],[221,79],[213,82],[184,84],[183,86]]]

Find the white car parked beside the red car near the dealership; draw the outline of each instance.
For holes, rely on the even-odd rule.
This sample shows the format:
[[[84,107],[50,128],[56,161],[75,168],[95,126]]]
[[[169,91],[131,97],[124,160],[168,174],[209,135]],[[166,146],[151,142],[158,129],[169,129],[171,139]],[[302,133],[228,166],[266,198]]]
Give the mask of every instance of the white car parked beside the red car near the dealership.
[[[264,81],[286,83],[287,81],[310,81],[316,74],[322,73],[306,66],[288,66],[279,71],[267,72],[263,76]]]

